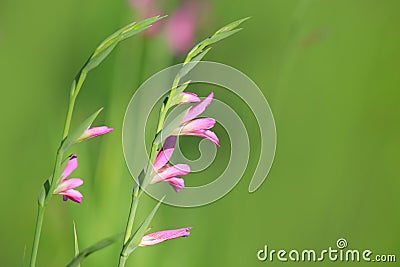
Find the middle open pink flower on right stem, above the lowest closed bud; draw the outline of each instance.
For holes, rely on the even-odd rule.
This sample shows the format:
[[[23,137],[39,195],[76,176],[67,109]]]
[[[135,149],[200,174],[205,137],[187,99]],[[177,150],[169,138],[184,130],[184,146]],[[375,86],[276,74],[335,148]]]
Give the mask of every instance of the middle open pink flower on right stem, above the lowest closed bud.
[[[153,166],[153,179],[150,184],[159,182],[169,183],[176,192],[185,187],[184,180],[180,176],[190,173],[190,167],[187,164],[176,164],[170,166],[168,164],[174,153],[176,136],[169,136],[164,143],[163,148],[157,154]]]

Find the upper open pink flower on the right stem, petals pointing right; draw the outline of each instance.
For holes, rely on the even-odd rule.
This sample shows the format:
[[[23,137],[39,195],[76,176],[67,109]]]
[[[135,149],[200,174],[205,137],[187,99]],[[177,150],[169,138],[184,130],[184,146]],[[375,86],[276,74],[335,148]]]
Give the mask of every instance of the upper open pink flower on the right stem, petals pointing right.
[[[214,127],[215,119],[213,118],[199,118],[195,119],[210,105],[214,94],[211,93],[198,105],[189,109],[188,113],[184,117],[181,125],[172,134],[173,135],[193,135],[207,138],[217,146],[219,146],[219,140],[217,135],[209,129]]]

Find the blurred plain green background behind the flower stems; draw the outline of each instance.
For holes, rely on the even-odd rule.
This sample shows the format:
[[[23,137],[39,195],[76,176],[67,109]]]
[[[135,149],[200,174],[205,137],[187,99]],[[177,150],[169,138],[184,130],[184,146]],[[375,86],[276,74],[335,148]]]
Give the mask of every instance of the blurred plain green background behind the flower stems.
[[[167,14],[178,5],[160,2]],[[253,194],[247,191],[250,164],[234,190],[215,203],[161,207],[155,230],[192,226],[192,235],[141,248],[127,266],[309,266],[259,262],[256,253],[264,245],[322,250],[335,247],[341,237],[349,248],[398,257],[399,12],[398,0],[209,3],[196,40],[252,17],[245,30],[215,45],[206,59],[242,70],[263,90],[276,120],[275,162]],[[22,266],[29,259],[37,194],[52,170],[74,75],[101,40],[135,20],[135,14],[124,0],[0,1],[1,266]],[[147,57],[141,62],[143,45]],[[137,36],[90,73],[73,126],[104,106],[96,125],[116,130],[76,147],[80,167],[73,176],[85,180],[84,201],[53,199],[38,266],[65,266],[71,259],[73,220],[82,248],[123,231],[132,187],[121,147],[123,114],[138,77],[172,62],[179,60],[162,33],[147,40]],[[232,98],[223,90],[216,95]],[[245,106],[238,112],[251,120]],[[192,157],[198,151],[187,153]],[[198,183],[201,175],[196,175]],[[141,203],[143,218],[155,202]],[[109,247],[82,266],[116,266],[119,250],[120,244]]]

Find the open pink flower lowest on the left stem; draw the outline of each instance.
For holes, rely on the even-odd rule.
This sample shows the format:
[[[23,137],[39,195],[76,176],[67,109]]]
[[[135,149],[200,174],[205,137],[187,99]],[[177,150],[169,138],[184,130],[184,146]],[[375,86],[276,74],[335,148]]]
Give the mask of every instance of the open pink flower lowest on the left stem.
[[[81,192],[74,190],[74,188],[81,186],[83,184],[82,179],[79,178],[70,178],[67,177],[78,167],[78,159],[76,154],[74,154],[69,160],[65,169],[62,173],[61,182],[58,184],[57,188],[54,190],[54,194],[62,195],[63,200],[67,201],[71,199],[77,203],[82,202],[82,194]]]

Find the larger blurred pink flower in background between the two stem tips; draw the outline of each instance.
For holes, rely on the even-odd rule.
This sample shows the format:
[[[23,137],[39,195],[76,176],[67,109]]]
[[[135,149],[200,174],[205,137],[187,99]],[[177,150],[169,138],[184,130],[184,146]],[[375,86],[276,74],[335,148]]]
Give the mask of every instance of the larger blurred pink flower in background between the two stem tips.
[[[174,54],[186,53],[193,46],[196,24],[196,7],[192,1],[186,1],[171,15],[166,25],[166,33]]]

